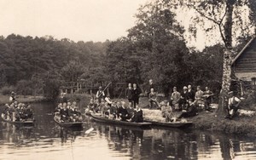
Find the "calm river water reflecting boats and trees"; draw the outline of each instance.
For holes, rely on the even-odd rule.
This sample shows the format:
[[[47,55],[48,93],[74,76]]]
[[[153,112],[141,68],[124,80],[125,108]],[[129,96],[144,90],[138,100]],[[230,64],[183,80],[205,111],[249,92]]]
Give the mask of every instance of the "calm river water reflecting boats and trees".
[[[196,129],[132,129],[90,117],[84,117],[82,130],[61,129],[53,121],[54,108],[34,104],[32,128],[0,122],[0,159],[256,159],[254,138]]]

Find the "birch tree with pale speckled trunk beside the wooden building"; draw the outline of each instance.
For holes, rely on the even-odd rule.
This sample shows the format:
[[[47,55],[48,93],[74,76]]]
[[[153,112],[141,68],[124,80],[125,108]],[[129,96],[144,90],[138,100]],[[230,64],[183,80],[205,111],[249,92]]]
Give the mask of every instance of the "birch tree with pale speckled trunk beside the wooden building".
[[[234,42],[241,35],[255,34],[255,4],[253,0],[162,0],[162,3],[169,4],[170,8],[194,9],[194,24],[190,31],[196,31],[201,25],[205,31],[217,29],[224,43],[224,62],[222,75],[222,90],[220,93],[218,114],[224,114],[226,105],[225,97],[230,90],[231,62]],[[248,10],[248,13],[246,12]],[[241,14],[241,12],[244,12]],[[247,18],[244,15],[247,14]],[[208,22],[210,27],[206,27]],[[246,24],[246,25],[245,25]],[[254,27],[254,28],[253,28]],[[234,30],[236,28],[236,31]],[[240,29],[240,30],[239,30]],[[216,31],[216,30],[215,30]],[[216,33],[216,32],[215,32]]]

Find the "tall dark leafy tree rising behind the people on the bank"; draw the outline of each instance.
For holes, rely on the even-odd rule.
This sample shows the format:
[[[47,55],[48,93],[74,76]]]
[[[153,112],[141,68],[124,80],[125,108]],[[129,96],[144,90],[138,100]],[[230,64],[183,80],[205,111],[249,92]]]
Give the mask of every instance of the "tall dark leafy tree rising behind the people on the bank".
[[[137,23],[128,31],[128,38],[134,42],[137,55],[141,57],[143,79],[154,79],[164,92],[185,79],[187,67],[184,56],[189,49],[184,42],[183,27],[175,16],[165,3],[146,3],[138,9]]]

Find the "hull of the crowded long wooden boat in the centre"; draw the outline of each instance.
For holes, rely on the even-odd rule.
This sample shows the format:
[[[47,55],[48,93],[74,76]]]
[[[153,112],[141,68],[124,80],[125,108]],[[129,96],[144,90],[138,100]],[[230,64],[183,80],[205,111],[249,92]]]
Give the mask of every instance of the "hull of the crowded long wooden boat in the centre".
[[[115,119],[109,119],[107,117],[101,117],[96,114],[91,114],[91,117],[93,120],[96,122],[100,123],[109,123],[109,124],[115,124],[115,125],[124,125],[124,126],[132,126],[132,127],[149,127],[151,123],[131,123],[131,122],[126,122],[126,121],[120,121],[120,120],[115,120]]]

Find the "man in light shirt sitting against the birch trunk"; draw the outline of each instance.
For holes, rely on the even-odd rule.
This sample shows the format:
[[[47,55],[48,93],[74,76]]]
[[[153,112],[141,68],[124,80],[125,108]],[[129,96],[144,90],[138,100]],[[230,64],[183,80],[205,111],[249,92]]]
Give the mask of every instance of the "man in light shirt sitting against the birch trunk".
[[[229,92],[229,103],[227,107],[228,114],[225,118],[232,118],[236,116],[238,106],[241,103],[241,100],[237,98],[233,91]]]

